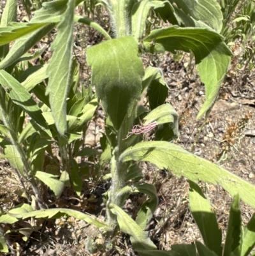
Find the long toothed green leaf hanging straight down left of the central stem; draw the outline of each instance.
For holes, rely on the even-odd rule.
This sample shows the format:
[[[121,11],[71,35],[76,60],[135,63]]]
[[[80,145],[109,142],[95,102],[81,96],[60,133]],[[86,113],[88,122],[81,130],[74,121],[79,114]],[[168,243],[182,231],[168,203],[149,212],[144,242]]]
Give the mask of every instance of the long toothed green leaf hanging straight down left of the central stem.
[[[52,43],[52,59],[48,64],[47,94],[50,95],[50,107],[55,126],[61,135],[67,130],[66,97],[69,91],[72,51],[73,51],[73,17],[75,0],[68,1],[68,8],[61,16],[58,33]]]

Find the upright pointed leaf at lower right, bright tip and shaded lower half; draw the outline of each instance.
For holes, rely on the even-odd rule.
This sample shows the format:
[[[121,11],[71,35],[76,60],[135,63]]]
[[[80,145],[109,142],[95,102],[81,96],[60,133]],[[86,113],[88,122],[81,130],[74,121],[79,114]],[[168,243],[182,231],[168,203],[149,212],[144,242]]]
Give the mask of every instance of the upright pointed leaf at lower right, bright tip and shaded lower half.
[[[221,229],[217,217],[212,211],[210,202],[205,198],[198,184],[189,181],[189,206],[205,245],[218,256],[222,255]]]

